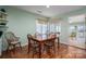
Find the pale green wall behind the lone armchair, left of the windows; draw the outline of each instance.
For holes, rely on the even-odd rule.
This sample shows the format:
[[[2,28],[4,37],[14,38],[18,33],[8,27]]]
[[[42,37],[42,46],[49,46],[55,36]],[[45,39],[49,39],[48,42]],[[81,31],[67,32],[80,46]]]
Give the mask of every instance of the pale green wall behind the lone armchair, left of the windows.
[[[27,44],[27,34],[35,34],[36,20],[45,16],[26,12],[13,7],[3,7],[8,13],[9,27],[7,31],[13,31],[15,36],[20,37],[22,46]],[[5,50],[5,44],[3,46]]]

